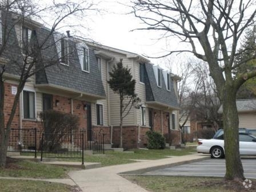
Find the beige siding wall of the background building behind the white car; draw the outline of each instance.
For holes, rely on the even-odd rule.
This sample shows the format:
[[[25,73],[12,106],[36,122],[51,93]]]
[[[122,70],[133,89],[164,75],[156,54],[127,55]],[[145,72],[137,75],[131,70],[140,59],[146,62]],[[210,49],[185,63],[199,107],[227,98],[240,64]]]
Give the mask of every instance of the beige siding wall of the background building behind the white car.
[[[256,129],[256,113],[238,114],[239,127]]]

